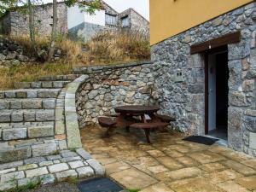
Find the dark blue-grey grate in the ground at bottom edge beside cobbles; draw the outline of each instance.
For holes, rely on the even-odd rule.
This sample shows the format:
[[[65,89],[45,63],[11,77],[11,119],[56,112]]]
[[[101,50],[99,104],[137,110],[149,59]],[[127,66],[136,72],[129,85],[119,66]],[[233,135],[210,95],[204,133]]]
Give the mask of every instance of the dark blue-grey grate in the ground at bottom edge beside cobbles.
[[[78,184],[81,192],[119,192],[123,190],[108,178],[94,178]]]

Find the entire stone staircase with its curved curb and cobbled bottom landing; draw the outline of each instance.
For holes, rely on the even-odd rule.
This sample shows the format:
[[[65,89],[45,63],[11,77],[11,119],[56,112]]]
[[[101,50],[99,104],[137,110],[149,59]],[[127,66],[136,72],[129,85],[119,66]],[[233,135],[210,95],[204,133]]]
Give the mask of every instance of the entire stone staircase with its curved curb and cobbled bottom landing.
[[[0,191],[105,174],[81,148],[75,98],[87,78],[42,77],[0,91]]]

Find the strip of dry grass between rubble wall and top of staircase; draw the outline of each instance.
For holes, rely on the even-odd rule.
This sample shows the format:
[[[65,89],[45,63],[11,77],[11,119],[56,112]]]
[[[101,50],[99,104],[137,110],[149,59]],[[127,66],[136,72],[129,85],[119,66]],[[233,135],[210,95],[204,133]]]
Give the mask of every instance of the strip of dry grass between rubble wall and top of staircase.
[[[72,64],[47,63],[47,64],[23,64],[17,67],[0,68],[0,90],[13,88],[14,82],[34,81],[41,76],[67,74],[72,71]]]

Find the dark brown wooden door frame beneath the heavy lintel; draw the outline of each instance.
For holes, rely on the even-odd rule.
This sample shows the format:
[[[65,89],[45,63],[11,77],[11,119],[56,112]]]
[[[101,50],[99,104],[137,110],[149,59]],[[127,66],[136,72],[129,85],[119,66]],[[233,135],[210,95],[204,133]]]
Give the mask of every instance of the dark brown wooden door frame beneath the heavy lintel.
[[[205,58],[205,135],[209,133],[209,55],[218,54],[228,51],[228,45],[224,45],[215,49],[209,49],[204,52]]]

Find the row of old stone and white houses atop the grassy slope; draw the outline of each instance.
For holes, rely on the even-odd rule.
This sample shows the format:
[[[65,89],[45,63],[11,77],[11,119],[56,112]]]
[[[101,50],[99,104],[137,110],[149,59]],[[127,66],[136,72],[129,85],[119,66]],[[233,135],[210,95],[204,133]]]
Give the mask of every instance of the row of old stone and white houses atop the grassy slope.
[[[0,32],[5,35],[28,34],[28,15],[22,8],[9,10],[0,18]],[[52,27],[52,3],[35,7],[35,26],[38,34],[49,36]],[[97,32],[105,29],[125,28],[148,34],[149,22],[134,9],[118,13],[102,1],[102,9],[95,15],[81,12],[79,5],[68,8],[65,3],[58,3],[58,32],[69,33],[73,39],[90,40]]]

